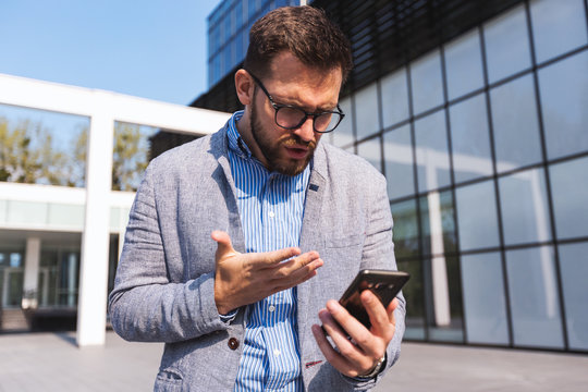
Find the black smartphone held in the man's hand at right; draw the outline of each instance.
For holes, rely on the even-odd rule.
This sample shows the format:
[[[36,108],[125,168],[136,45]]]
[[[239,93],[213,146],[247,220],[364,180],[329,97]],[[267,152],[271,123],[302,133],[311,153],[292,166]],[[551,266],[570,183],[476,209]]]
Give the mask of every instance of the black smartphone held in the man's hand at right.
[[[402,286],[411,279],[407,272],[365,269],[357,273],[353,282],[350,284],[339,303],[347,309],[347,311],[359,320],[366,328],[371,327],[369,316],[362,304],[359,295],[364,290],[370,290],[382,305],[388,305],[399,294]]]

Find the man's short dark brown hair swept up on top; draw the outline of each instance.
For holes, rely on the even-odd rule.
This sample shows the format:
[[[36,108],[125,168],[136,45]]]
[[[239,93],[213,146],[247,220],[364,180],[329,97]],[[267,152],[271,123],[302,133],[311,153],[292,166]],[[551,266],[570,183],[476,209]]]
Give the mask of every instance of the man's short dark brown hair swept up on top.
[[[273,58],[284,50],[311,68],[341,68],[343,82],[353,68],[350,41],[343,32],[324,11],[309,5],[279,8],[255,22],[244,68],[264,75]]]

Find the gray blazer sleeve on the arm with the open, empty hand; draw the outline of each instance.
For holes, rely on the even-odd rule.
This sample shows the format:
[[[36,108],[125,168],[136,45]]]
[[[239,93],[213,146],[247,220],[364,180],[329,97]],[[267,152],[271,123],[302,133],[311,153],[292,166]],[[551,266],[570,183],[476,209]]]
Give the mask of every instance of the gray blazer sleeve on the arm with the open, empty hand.
[[[131,209],[125,243],[109,295],[112,328],[123,339],[177,342],[226,329],[215,303],[213,272],[170,279],[149,166]]]

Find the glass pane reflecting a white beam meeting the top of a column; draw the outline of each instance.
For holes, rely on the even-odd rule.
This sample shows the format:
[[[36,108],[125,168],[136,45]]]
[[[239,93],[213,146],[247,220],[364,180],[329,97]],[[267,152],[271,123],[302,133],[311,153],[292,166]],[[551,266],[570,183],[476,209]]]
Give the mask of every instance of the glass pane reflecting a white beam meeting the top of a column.
[[[427,192],[451,183],[444,111],[415,121],[418,191]]]

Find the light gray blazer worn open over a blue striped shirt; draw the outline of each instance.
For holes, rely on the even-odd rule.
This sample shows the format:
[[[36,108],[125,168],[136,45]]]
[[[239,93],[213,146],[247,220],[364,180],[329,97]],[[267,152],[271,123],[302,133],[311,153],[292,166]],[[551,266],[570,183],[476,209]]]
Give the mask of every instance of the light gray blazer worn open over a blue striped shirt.
[[[318,250],[318,275],[297,286],[301,367],[307,391],[369,390],[324,359],[310,327],[363,268],[395,269],[385,180],[364,159],[319,143],[306,195],[302,252]],[[156,391],[230,391],[245,334],[246,307],[223,323],[215,305],[213,230],[244,252],[226,128],[152,160],[131,209],[109,297],[112,327],[128,341],[166,342]],[[404,333],[404,298],[387,368]]]

